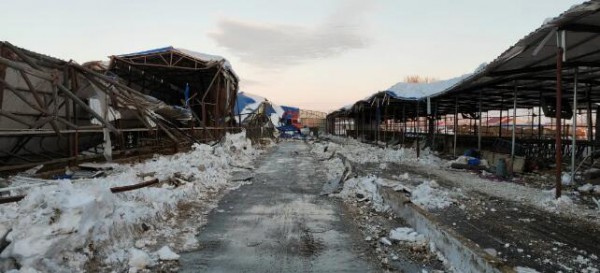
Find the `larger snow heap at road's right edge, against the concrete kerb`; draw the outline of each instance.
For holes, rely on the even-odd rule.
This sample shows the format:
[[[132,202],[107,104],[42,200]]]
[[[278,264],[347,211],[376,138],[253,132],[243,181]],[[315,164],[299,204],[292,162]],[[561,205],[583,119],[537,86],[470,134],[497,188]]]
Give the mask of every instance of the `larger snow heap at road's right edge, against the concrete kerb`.
[[[386,211],[388,206],[384,204],[383,197],[381,197],[377,190],[382,182],[380,178],[375,176],[351,178],[344,183],[344,188],[340,193],[332,196],[341,197],[346,200],[366,198],[371,202],[375,211]]]

